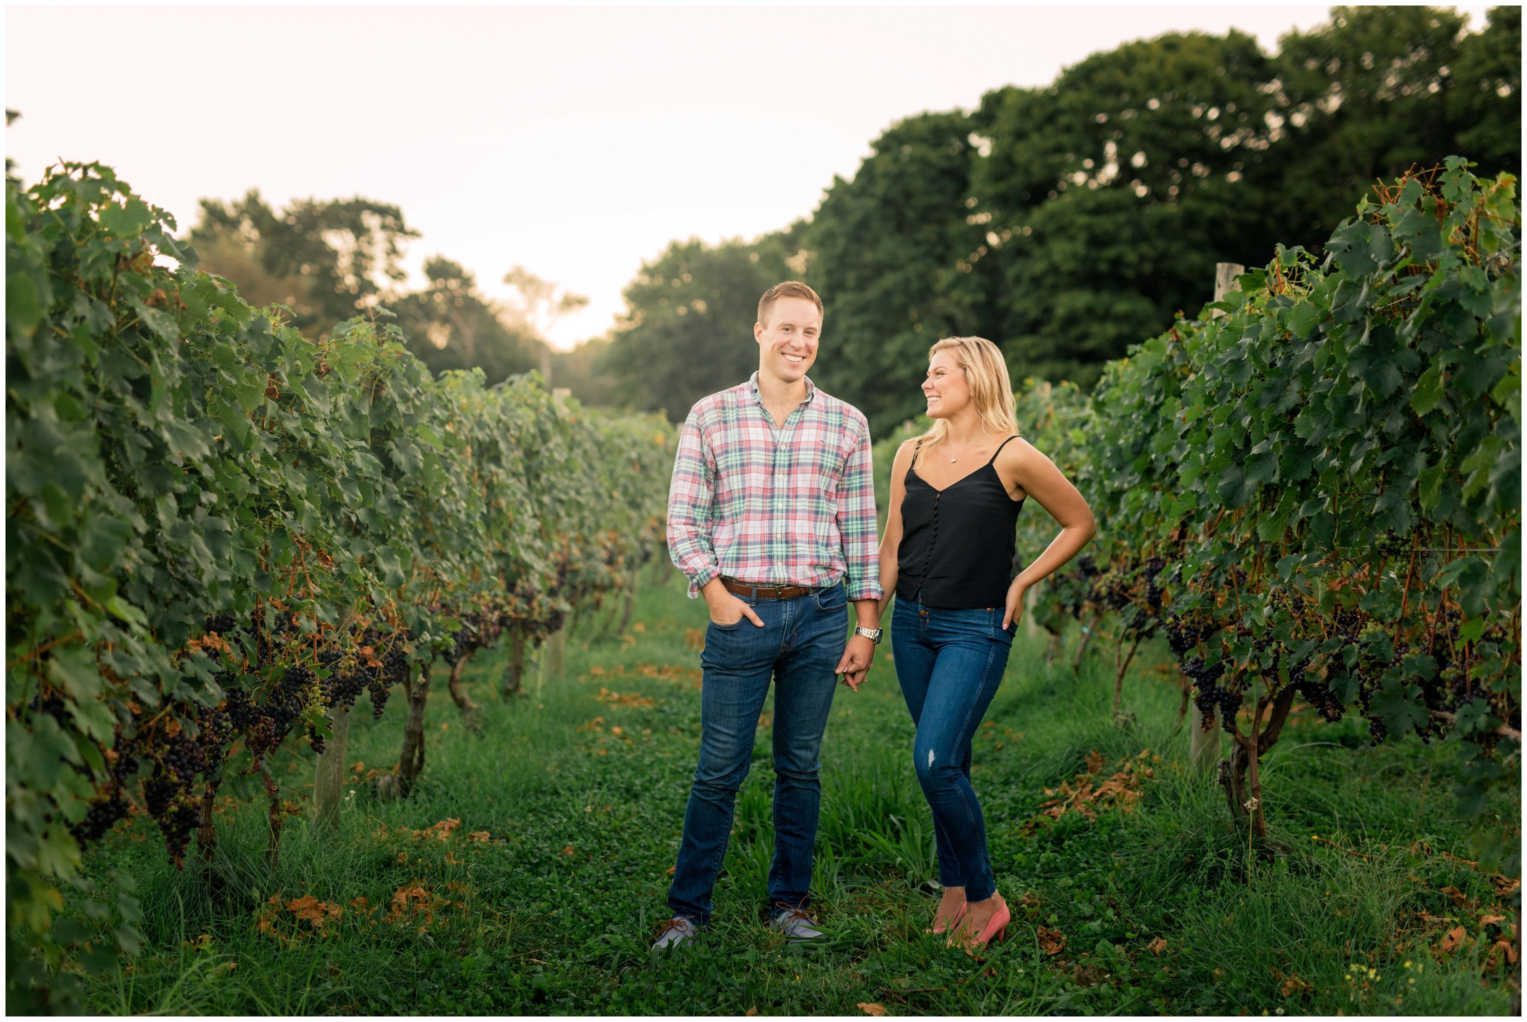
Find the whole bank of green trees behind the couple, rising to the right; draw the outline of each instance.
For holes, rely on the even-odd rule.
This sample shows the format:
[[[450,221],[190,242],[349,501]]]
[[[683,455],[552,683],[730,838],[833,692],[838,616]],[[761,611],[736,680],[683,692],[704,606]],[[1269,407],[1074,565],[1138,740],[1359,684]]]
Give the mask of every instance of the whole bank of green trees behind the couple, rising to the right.
[[[623,402],[683,416],[751,370],[751,345],[725,338],[745,339],[757,296],[799,269],[826,304],[812,376],[876,431],[921,409],[942,336],[989,338],[1014,377],[1090,386],[1208,301],[1215,263],[1319,252],[1379,179],[1451,154],[1518,173],[1521,11],[1463,24],[1339,6],[1275,55],[1237,31],[1167,34],[968,113],[906,118],[809,222],[644,266],[602,367]],[[788,266],[768,252],[786,237]]]

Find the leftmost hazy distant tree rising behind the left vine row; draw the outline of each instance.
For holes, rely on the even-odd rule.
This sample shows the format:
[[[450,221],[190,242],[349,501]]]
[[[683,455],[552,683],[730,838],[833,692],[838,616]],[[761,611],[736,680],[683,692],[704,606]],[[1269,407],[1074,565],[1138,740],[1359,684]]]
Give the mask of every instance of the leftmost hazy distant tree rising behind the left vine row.
[[[189,234],[202,269],[252,302],[287,306],[299,330],[328,330],[376,306],[406,277],[402,246],[417,237],[397,206],[298,199],[276,212],[258,189],[235,202],[203,199]]]

